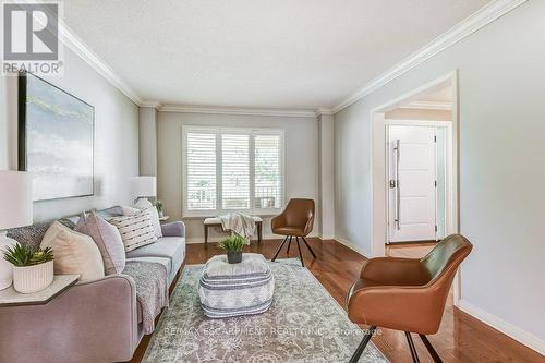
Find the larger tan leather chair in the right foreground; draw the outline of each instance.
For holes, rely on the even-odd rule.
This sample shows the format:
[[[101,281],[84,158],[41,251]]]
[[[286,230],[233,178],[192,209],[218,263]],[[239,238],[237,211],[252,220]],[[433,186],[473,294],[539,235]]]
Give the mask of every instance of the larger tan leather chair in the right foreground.
[[[439,329],[452,279],[472,247],[464,237],[452,234],[420,259],[367,259],[347,303],[350,320],[371,328],[350,362],[358,362],[377,326],[404,331],[414,362],[419,355],[411,332],[419,334],[434,362],[441,362],[426,335]]]

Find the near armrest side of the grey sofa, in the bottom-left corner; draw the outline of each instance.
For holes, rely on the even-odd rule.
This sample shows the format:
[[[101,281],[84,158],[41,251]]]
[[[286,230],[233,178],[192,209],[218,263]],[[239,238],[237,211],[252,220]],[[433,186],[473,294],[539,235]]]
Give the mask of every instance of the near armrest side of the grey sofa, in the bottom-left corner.
[[[138,344],[136,314],[125,275],[77,283],[45,305],[1,307],[0,362],[128,361]]]

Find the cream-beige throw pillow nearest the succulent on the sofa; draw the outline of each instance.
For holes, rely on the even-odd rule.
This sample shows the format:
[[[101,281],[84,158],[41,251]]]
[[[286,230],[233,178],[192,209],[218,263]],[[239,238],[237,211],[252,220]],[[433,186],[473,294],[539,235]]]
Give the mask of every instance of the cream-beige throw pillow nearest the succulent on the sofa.
[[[55,274],[77,274],[80,281],[104,277],[100,251],[86,234],[75,232],[55,221],[44,235],[40,246],[53,250]]]

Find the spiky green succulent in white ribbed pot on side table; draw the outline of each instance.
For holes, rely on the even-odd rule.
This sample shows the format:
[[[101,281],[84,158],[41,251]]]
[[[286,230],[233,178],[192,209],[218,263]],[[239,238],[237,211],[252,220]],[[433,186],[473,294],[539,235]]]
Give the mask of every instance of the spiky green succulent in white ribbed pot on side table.
[[[16,243],[5,247],[4,259],[13,264],[13,288],[21,293],[38,292],[53,281],[51,247],[33,249]]]

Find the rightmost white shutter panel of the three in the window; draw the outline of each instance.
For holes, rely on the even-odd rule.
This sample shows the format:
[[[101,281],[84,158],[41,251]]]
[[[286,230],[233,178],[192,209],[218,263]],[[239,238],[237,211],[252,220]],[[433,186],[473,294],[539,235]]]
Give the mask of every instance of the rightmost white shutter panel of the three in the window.
[[[254,208],[278,209],[283,201],[283,135],[254,133]]]

